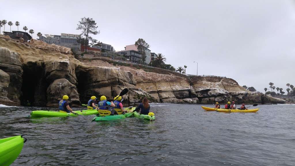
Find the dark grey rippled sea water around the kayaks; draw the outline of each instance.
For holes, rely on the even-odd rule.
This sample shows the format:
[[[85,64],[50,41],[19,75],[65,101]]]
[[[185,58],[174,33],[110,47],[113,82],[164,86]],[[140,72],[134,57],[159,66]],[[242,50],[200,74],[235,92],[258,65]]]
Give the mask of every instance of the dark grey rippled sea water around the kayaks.
[[[0,107],[0,138],[28,139],[13,166],[295,165],[295,105],[258,105],[257,113],[151,106],[152,122],[91,122],[94,115],[30,119],[32,110],[57,109]]]

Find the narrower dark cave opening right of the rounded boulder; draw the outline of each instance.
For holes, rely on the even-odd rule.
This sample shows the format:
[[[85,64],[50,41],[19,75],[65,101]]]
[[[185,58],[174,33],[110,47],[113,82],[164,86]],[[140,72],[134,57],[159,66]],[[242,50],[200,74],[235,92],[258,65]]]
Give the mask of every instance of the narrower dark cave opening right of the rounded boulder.
[[[88,89],[87,88],[87,77],[88,73],[85,72],[85,71],[77,71],[76,70],[76,77],[77,77],[77,80],[78,80],[78,86],[77,86],[77,91],[80,95],[80,102],[82,104],[87,104],[88,100],[89,100],[89,97],[87,97],[85,95],[85,91]]]

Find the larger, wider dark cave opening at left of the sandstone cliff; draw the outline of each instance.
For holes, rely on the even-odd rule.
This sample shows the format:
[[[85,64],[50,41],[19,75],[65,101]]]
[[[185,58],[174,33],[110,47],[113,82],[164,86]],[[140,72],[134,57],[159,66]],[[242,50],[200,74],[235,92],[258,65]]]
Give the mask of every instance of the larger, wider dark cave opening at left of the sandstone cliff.
[[[20,101],[23,106],[45,106],[47,102],[44,66],[28,63],[22,66],[22,88]]]

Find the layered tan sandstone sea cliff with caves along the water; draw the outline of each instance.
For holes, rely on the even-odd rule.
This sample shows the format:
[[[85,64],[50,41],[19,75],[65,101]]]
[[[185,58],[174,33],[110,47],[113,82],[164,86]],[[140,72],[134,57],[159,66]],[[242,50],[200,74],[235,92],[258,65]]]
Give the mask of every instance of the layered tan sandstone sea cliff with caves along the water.
[[[80,106],[92,95],[112,99],[124,88],[130,89],[124,105],[137,104],[144,96],[151,102],[285,103],[250,92],[230,78],[115,66],[103,59],[79,61],[70,48],[40,40],[22,43],[0,35],[0,104],[18,106],[29,100],[35,106],[56,107],[67,94],[73,106]]]

